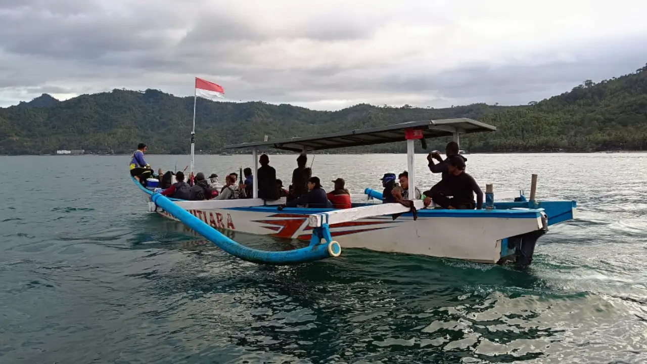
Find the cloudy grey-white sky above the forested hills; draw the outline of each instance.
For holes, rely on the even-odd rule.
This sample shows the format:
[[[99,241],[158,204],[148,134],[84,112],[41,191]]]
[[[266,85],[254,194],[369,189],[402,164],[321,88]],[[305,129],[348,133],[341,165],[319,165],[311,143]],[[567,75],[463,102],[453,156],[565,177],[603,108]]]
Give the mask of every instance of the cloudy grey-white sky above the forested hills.
[[[647,63],[644,0],[0,0],[0,106],[114,88],[314,109],[527,102]]]

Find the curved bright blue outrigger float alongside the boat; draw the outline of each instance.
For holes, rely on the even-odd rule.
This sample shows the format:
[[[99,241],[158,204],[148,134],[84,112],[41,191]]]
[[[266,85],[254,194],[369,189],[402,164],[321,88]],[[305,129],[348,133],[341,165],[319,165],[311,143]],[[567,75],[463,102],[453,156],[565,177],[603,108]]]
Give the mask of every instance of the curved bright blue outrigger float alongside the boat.
[[[289,251],[263,251],[234,242],[234,240],[221,234],[207,223],[190,214],[187,210],[173,203],[166,196],[159,194],[159,192],[153,194],[151,200],[155,205],[175,216],[177,220],[180,220],[184,225],[204,236],[204,238],[214,243],[220,249],[248,262],[276,265],[295,264],[339,256],[342,253],[342,247],[339,243],[332,240],[327,224],[313,229],[313,238],[307,247]]]

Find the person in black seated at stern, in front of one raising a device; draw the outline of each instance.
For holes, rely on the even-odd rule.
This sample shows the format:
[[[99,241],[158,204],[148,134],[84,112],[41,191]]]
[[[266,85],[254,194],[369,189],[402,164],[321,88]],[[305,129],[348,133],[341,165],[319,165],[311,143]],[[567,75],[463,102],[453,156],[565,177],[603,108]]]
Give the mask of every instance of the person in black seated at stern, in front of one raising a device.
[[[473,210],[476,207],[480,210],[483,207],[483,191],[474,178],[465,173],[465,159],[459,155],[452,155],[449,159],[449,175],[424,192],[424,205],[428,206],[433,201],[443,209]]]

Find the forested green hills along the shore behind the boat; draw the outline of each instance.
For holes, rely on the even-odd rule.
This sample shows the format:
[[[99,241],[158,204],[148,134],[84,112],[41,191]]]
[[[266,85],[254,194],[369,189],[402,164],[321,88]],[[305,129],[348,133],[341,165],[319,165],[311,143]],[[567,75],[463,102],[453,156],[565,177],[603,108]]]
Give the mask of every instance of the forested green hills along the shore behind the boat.
[[[150,153],[187,154],[193,97],[161,91],[81,95],[59,102],[43,95],[0,108],[0,154],[50,154],[58,149],[132,152],[146,142]],[[196,150],[216,153],[224,144],[305,136],[395,124],[468,117],[498,127],[469,135],[470,152],[589,152],[647,150],[647,65],[635,73],[587,80],[572,91],[527,106],[472,104],[445,109],[378,107],[360,104],[340,111],[313,111],[265,102],[211,102],[198,99]],[[432,141],[442,148],[446,141]],[[404,152],[404,142],[345,152]]]

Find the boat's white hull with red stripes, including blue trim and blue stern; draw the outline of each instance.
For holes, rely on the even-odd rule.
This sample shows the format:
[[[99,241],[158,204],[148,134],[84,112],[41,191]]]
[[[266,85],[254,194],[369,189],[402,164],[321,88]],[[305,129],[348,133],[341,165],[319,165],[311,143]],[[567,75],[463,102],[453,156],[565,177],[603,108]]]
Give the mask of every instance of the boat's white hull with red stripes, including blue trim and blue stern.
[[[151,201],[151,191],[142,190],[146,192],[149,211],[179,221]],[[229,204],[250,202],[232,200]],[[312,238],[313,227],[309,224],[309,216],[333,211],[302,208],[278,210],[276,206],[212,208],[226,201],[174,203],[214,229],[303,241],[311,241]],[[260,203],[263,203],[262,200],[259,200]],[[396,219],[390,215],[353,218],[353,221],[329,225],[329,231],[331,238],[344,249],[369,249],[490,264],[505,260],[519,262],[522,245],[524,249],[531,246],[531,253],[526,250],[525,257],[522,257],[529,264],[536,240],[547,231],[551,216],[556,222],[571,220],[575,216],[574,202],[548,201],[545,204],[546,209],[529,209],[527,202],[496,203],[500,206],[498,210],[490,211],[422,209],[417,211],[417,221],[413,220],[411,212],[401,214]]]

